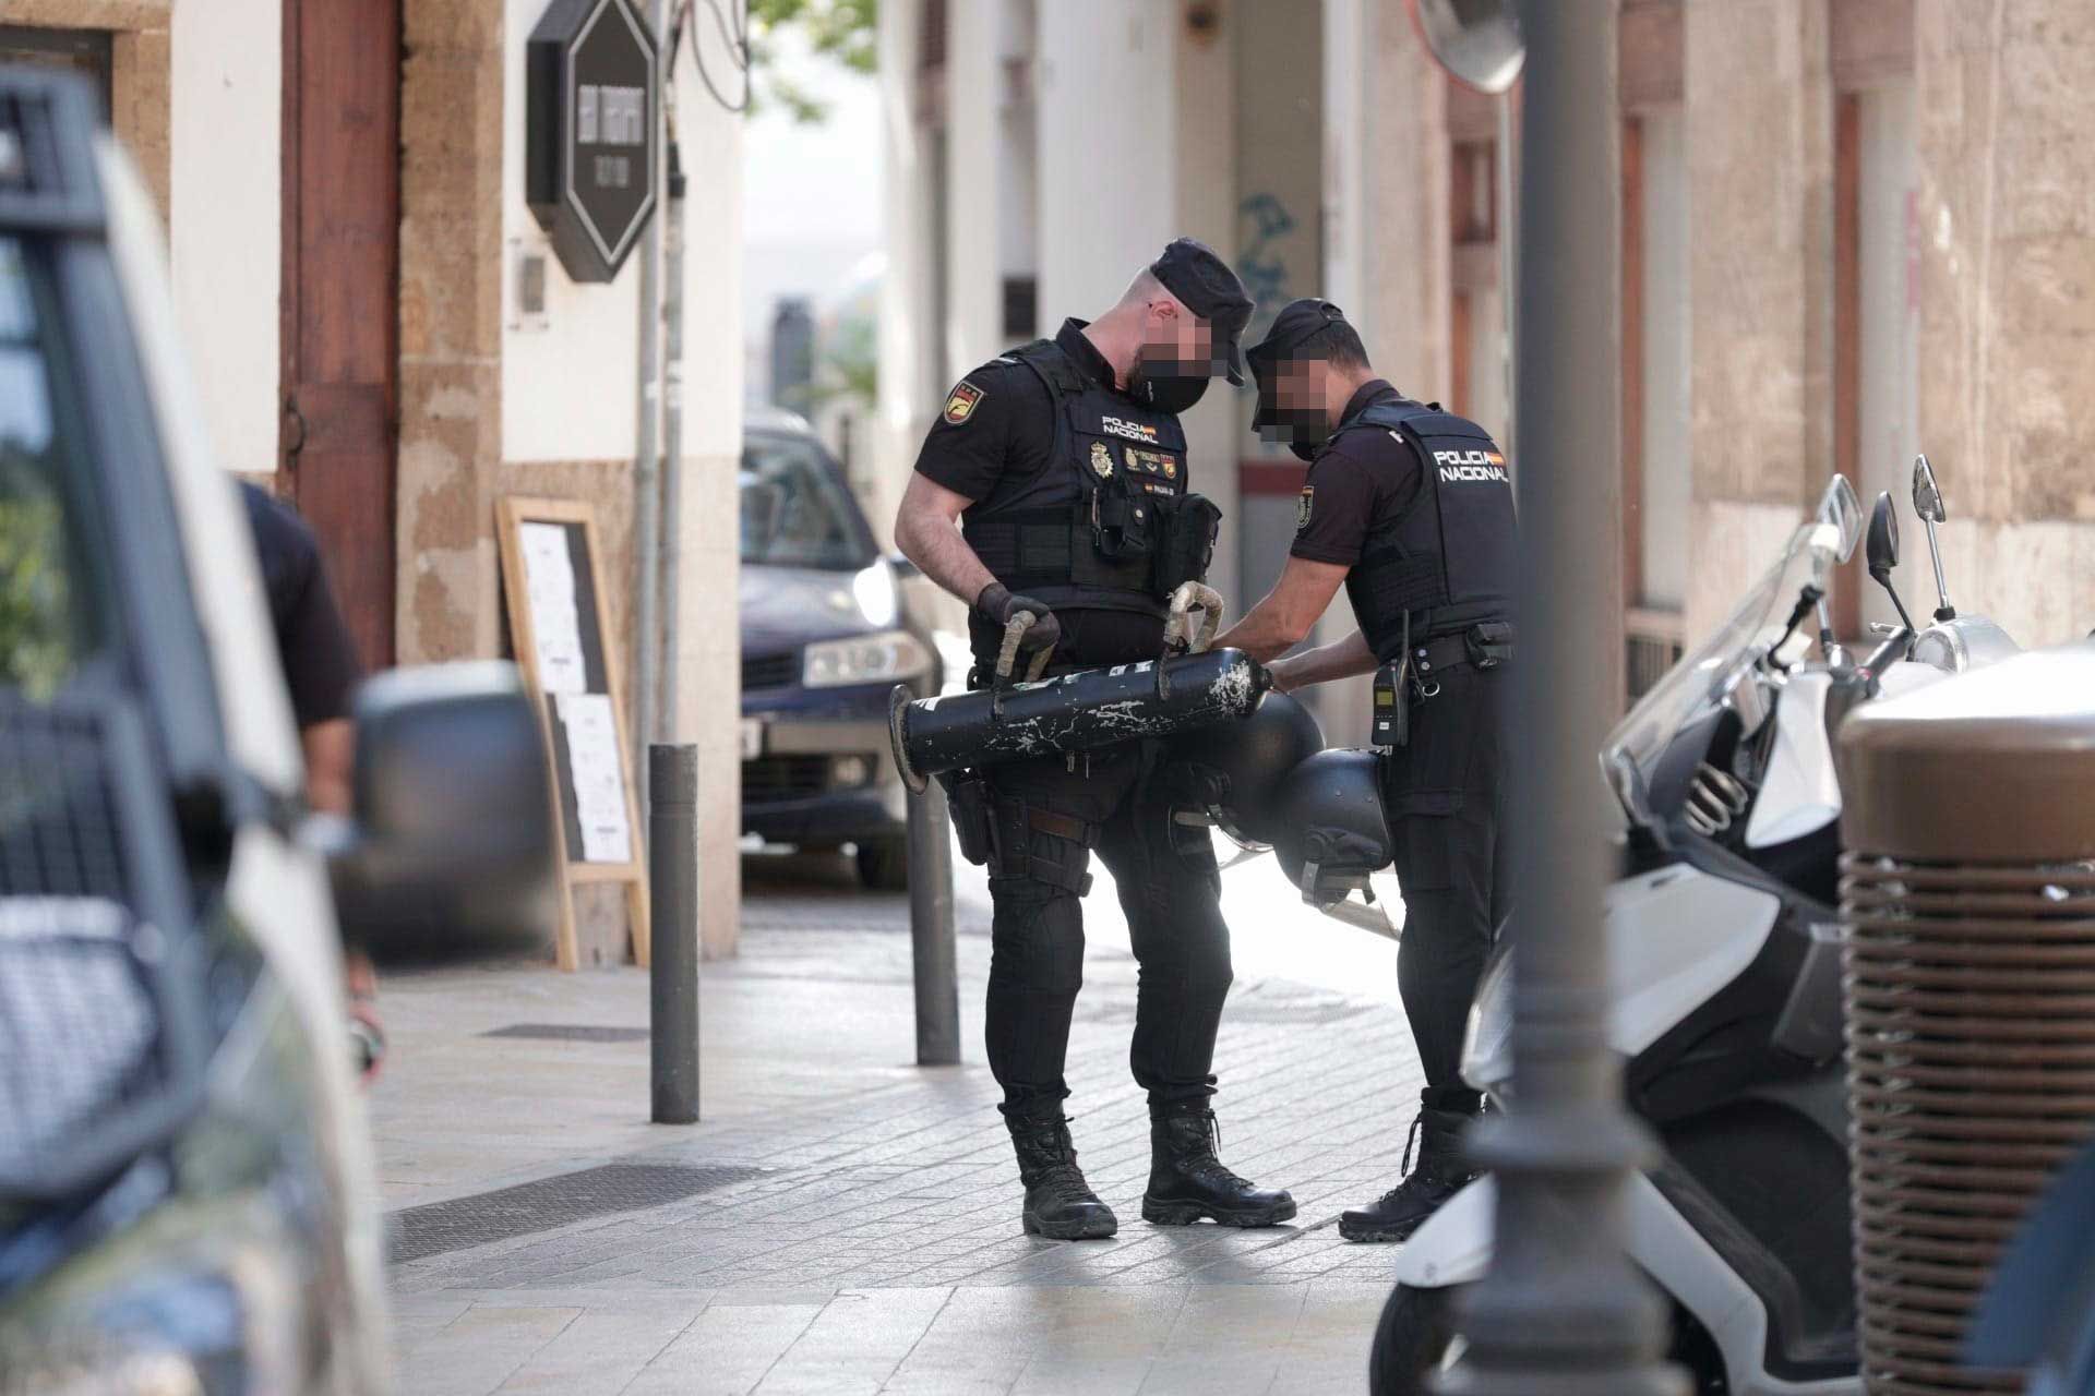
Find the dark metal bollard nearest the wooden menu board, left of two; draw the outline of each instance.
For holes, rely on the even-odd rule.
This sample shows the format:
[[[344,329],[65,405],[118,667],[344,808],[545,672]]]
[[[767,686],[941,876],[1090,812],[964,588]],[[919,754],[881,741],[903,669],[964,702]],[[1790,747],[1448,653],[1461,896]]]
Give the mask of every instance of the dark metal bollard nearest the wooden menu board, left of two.
[[[698,1122],[698,747],[647,747],[647,1051],[656,1124]]]

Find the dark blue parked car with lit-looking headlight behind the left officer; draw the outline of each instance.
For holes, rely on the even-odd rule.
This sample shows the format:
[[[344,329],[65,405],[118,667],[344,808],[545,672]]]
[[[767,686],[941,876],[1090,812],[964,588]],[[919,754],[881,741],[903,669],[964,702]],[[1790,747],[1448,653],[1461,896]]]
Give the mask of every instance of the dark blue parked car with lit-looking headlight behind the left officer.
[[[867,887],[905,885],[888,691],[936,682],[844,471],[798,416],[752,412],[742,440],[742,831],[855,846]]]

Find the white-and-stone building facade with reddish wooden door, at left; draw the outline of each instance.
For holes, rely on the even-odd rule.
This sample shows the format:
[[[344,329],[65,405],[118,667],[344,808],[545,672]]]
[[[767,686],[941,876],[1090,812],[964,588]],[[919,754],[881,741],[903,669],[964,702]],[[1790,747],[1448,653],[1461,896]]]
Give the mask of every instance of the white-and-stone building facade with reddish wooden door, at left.
[[[524,201],[524,42],[547,4],[0,4],[0,59],[103,82],[111,128],[168,218],[218,450],[321,532],[371,663],[505,653],[497,500],[532,494],[595,506],[631,668],[641,257],[578,285]],[[721,44],[710,25],[691,38]],[[731,69],[725,52],[706,61]],[[675,88],[691,333],[672,527],[689,617],[735,594],[735,511],[719,494],[742,450],[742,121],[689,50]],[[526,310],[532,260],[543,306]],[[740,703],[712,676],[735,666],[733,626],[681,636],[670,724],[700,743],[714,954],[733,950],[740,908]],[[622,959],[616,892],[578,885],[576,900],[582,963]]]

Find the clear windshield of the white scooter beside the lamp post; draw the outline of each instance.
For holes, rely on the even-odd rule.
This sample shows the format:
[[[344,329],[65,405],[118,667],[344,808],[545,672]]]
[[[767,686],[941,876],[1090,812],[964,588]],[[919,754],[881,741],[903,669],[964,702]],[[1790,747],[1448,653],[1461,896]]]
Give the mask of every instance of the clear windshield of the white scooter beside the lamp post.
[[[1632,820],[1653,823],[1645,791],[1651,789],[1651,772],[1674,735],[1724,703],[1745,672],[1781,638],[1800,592],[1806,586],[1825,588],[1839,561],[1839,527],[1823,521],[1802,523],[1724,624],[1668,670],[1666,678],[1653,684],[1630,716],[1607,735],[1601,747],[1601,772]]]

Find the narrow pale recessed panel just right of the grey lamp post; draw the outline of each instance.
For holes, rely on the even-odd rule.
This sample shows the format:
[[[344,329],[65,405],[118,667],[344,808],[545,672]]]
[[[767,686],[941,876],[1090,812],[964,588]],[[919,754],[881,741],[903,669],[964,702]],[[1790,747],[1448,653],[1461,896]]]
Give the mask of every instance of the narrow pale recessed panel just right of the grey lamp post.
[[[1689,161],[1686,117],[1653,111],[1642,119],[1645,155],[1645,594],[1632,605],[1680,609],[1689,586],[1689,496],[1695,460],[1689,383]]]

